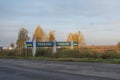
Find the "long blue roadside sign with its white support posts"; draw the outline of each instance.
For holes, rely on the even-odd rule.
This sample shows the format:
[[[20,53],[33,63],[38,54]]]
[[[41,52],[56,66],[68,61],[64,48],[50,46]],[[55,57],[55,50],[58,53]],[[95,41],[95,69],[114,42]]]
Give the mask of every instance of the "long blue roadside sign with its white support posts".
[[[56,42],[55,40],[53,42],[36,42],[34,39],[33,42],[26,42],[26,47],[32,47],[32,55],[35,56],[36,54],[36,47],[52,47],[53,53],[56,53],[56,46],[70,46],[71,49],[74,48],[74,46],[78,46],[78,42]],[[27,55],[27,54],[26,54]]]

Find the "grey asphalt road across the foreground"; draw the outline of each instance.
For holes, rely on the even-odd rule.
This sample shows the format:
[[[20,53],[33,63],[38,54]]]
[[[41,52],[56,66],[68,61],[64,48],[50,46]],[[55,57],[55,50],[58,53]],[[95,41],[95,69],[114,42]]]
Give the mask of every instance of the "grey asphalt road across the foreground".
[[[120,80],[120,64],[0,59],[0,80]]]

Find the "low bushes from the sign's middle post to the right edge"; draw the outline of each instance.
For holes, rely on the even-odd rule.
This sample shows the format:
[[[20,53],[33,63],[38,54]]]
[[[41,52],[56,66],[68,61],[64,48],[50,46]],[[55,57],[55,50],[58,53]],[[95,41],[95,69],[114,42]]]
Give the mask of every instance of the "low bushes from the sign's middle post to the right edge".
[[[104,53],[97,53],[92,49],[58,49],[57,53],[54,55],[55,58],[101,58],[101,59],[116,59],[120,58],[120,52],[117,51],[106,51]]]

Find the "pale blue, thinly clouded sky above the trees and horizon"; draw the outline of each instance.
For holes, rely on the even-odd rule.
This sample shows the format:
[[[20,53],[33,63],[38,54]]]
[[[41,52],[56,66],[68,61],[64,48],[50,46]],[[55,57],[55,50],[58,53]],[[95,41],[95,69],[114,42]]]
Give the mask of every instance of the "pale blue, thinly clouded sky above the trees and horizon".
[[[58,41],[80,31],[87,45],[116,45],[120,0],[0,0],[0,45],[15,43],[21,27],[32,38],[38,25]]]

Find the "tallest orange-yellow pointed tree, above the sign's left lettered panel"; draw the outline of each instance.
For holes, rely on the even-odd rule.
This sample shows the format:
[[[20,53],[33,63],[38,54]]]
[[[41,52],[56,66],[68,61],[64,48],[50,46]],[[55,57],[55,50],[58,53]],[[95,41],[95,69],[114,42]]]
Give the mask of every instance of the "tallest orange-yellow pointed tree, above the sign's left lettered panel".
[[[47,40],[47,36],[46,36],[45,32],[43,31],[43,29],[41,28],[41,26],[37,26],[37,28],[35,29],[35,32],[33,34],[33,38],[35,38],[36,41],[46,41]]]

